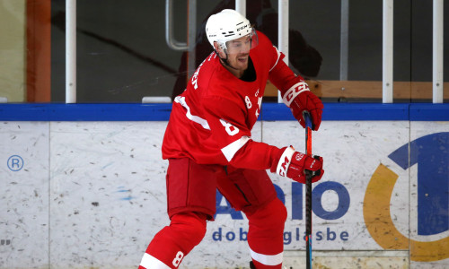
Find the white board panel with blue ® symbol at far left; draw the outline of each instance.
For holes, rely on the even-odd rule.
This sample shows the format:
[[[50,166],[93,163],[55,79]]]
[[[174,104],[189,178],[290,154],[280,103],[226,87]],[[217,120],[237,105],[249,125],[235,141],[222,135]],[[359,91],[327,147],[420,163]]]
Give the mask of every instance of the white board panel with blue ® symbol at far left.
[[[48,126],[0,123],[1,268],[48,265]]]

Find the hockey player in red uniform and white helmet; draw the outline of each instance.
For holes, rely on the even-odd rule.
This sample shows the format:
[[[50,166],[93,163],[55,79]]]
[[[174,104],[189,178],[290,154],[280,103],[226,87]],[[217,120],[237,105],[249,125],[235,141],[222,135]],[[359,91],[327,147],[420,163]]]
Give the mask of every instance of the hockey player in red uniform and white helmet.
[[[211,15],[206,33],[215,52],[174,100],[163,137],[171,223],[154,236],[139,268],[178,268],[203,239],[207,221],[214,220],[217,188],[249,220],[251,267],[281,268],[286,207],[266,169],[301,183],[304,169],[316,170],[315,182],[324,172],[322,158],[255,142],[251,129],[267,80],[280,89],[302,126],[308,110],[318,130],[323,106],[284,63],[284,55],[240,13]]]

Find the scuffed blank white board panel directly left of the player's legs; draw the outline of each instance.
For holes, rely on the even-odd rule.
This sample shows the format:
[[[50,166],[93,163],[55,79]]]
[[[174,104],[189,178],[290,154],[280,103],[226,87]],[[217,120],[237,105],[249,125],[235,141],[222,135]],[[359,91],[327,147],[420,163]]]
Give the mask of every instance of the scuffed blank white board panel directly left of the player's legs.
[[[168,223],[166,125],[52,123],[51,265],[139,264],[149,239]]]

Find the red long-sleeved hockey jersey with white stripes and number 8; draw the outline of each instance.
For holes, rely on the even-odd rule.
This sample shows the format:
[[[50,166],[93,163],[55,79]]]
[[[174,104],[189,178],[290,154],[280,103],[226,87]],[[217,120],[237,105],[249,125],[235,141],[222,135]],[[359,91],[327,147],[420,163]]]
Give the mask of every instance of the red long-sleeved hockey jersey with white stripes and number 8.
[[[190,158],[199,164],[269,169],[279,152],[251,140],[260,115],[267,80],[285,92],[303,81],[284,63],[284,55],[258,32],[259,45],[250,50],[256,79],[245,82],[231,74],[216,53],[198,66],[186,91],[173,101],[163,137],[163,159]]]

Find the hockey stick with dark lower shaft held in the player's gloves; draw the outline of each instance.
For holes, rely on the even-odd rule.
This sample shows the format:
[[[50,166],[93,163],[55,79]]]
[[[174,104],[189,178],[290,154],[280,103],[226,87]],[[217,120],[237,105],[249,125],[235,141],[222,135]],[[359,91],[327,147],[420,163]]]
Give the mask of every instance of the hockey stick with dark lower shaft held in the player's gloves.
[[[308,111],[303,113],[305,121],[305,154],[312,156],[312,119]],[[312,268],[312,177],[313,171],[305,173],[305,256],[306,268]]]

